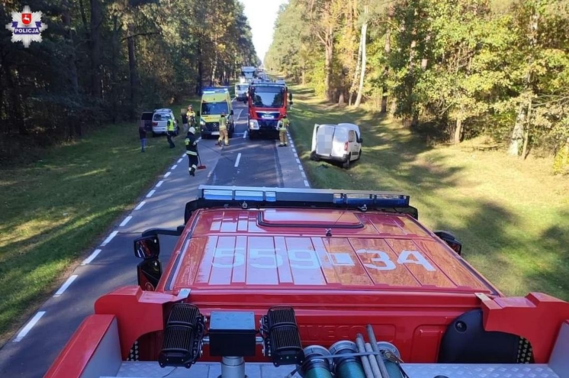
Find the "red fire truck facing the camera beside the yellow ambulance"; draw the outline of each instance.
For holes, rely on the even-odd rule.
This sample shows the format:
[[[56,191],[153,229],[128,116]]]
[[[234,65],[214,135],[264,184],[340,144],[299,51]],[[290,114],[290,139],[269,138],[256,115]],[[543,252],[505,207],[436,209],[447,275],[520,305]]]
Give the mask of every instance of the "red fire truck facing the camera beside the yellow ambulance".
[[[292,105],[292,93],[288,92],[284,80],[267,82],[254,80],[249,85],[249,139],[261,135],[278,138],[278,121],[287,113],[288,105]]]

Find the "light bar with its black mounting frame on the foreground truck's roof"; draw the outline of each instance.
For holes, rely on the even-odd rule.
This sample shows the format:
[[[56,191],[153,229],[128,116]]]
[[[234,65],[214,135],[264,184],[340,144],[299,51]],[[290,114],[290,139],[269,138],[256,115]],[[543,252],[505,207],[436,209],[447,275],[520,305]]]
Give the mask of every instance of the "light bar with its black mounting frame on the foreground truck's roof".
[[[409,205],[409,199],[400,192],[200,185],[197,199],[185,205],[184,221],[197,209],[215,207],[376,209],[417,218],[417,209]]]

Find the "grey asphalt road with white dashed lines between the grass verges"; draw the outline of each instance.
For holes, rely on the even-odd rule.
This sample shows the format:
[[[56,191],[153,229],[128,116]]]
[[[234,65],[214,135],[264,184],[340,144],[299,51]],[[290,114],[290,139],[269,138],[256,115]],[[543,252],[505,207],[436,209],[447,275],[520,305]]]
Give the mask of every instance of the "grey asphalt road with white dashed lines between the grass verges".
[[[137,283],[133,240],[147,228],[175,228],[183,223],[184,205],[195,199],[200,184],[308,187],[294,144],[277,147],[278,141],[250,141],[246,135],[247,109],[234,102],[236,130],[228,147],[214,139],[199,143],[207,169],[188,175],[188,160],[177,162],[156,178],[155,186],[141,196],[85,256],[63,285],[0,349],[0,377],[42,377],[81,321],[93,313],[94,301],[124,285]],[[176,138],[176,143],[183,143]],[[166,143],[166,141],[164,141]],[[166,262],[176,238],[160,236],[161,260]]]

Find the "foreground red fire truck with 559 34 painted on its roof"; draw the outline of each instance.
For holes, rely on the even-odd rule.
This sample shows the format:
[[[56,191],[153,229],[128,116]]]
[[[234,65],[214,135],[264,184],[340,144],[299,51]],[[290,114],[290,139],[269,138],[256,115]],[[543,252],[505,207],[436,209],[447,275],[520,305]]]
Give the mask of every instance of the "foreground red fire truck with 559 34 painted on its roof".
[[[569,377],[569,303],[504,297],[407,195],[201,186],[184,218],[46,377]]]

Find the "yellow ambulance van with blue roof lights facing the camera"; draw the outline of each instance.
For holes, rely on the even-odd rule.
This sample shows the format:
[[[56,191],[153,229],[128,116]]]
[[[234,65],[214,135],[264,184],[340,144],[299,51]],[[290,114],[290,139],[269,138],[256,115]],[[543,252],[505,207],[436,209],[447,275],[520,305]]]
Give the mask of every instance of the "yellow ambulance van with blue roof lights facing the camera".
[[[225,112],[227,117],[227,131],[231,138],[235,126],[228,89],[225,87],[204,88],[201,95],[200,112],[196,113],[196,116],[200,117],[200,132],[204,138],[219,135],[219,120],[222,112]]]

